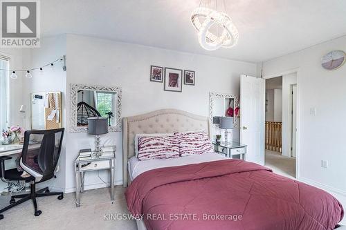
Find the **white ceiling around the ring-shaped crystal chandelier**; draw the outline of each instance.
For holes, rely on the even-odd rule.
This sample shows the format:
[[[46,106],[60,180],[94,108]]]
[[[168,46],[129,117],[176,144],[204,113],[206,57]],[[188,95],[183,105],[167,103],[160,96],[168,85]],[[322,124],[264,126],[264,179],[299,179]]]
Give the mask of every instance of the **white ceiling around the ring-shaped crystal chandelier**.
[[[239,43],[206,51],[190,23],[199,1],[44,0],[42,36],[75,33],[257,62],[346,35],[345,0],[225,0]]]

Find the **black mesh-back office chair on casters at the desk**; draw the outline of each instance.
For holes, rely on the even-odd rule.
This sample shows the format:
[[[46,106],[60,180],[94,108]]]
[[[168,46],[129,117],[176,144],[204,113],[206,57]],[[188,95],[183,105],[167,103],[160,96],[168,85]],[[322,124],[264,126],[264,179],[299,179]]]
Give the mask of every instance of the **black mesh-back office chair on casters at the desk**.
[[[62,192],[51,192],[48,187],[36,191],[35,185],[37,183],[50,180],[55,177],[57,171],[57,161],[59,160],[60,151],[62,149],[62,138],[64,136],[64,128],[44,131],[26,131],[24,133],[24,146],[21,151],[20,166],[24,171],[30,174],[28,177],[23,178],[23,172],[18,171],[17,168],[5,170],[5,161],[10,160],[12,157],[0,157],[0,178],[3,181],[8,180],[21,180],[30,182],[30,193],[12,195],[10,205],[0,210],[0,213],[11,209],[27,200],[33,200],[35,208],[35,216],[39,216],[42,211],[37,210],[37,197],[58,195],[58,199],[64,198]],[[29,145],[30,144],[30,145]],[[15,200],[21,198],[20,200]],[[0,214],[0,220],[3,215]]]

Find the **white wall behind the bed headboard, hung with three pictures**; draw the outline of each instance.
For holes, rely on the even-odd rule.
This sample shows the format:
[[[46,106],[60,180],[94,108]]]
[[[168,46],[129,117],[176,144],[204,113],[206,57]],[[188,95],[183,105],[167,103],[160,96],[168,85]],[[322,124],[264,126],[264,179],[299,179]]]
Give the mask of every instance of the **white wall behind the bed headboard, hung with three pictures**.
[[[195,70],[196,85],[183,85],[182,93],[166,92],[163,84],[149,81],[150,65]],[[256,64],[78,35],[67,35],[67,68],[68,86],[71,83],[121,86],[122,117],[161,108],[208,116],[209,92],[239,94],[239,75],[256,74]],[[80,148],[93,147],[94,137],[86,133],[67,133],[66,137],[66,191],[73,191],[72,162]],[[116,183],[121,184],[121,133],[101,138],[117,145]],[[105,173],[100,176],[107,180]],[[85,183],[86,187],[102,186],[92,173],[86,175]]]

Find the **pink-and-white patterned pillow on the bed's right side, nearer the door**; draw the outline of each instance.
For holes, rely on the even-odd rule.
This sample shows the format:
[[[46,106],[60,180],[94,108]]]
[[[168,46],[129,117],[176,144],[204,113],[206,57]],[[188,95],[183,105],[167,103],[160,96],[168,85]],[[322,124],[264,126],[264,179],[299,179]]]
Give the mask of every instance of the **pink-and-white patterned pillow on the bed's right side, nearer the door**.
[[[202,131],[174,133],[174,135],[178,137],[182,157],[208,153],[213,149],[208,135]]]

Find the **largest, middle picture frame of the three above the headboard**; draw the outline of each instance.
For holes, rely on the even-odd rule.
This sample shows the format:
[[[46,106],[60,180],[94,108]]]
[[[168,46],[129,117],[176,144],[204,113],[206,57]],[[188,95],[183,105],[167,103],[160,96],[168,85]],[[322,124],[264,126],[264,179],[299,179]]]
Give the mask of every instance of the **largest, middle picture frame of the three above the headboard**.
[[[182,92],[183,70],[177,68],[165,68],[165,82],[163,90],[171,92]]]

